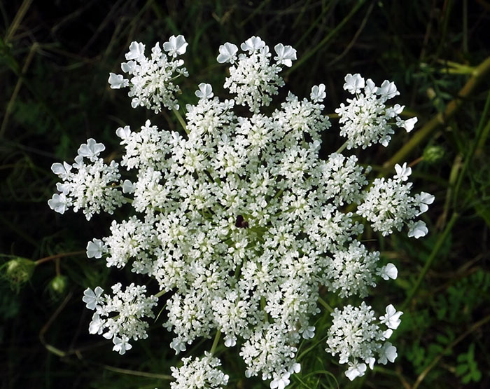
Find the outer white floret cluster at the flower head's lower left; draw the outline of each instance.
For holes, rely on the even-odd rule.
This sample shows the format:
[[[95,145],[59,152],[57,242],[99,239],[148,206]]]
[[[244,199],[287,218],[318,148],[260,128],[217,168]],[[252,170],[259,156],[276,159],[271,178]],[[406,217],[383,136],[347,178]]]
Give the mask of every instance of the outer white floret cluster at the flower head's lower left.
[[[155,296],[146,297],[146,287],[131,284],[123,291],[121,284],[113,285],[113,297],[102,295],[104,289],[87,288],[83,302],[87,308],[95,310],[90,322],[90,334],[99,334],[106,339],[112,339],[113,350],[121,355],[132,348],[130,339],[146,339],[148,323],[142,318],[154,318],[152,308],[157,305]]]

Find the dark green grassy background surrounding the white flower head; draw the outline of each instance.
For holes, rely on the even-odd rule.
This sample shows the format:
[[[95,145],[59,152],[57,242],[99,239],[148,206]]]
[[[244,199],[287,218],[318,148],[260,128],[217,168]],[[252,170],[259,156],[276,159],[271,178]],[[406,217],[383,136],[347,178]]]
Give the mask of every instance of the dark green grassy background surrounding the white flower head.
[[[325,83],[325,111],[333,114],[346,97],[344,75],[358,72],[377,85],[395,81],[396,102],[407,106],[406,117],[419,118],[387,149],[358,151],[375,174],[412,163],[414,189],[436,198],[425,238],[372,236],[379,238],[372,247],[400,271],[368,300],[378,310],[387,303],[403,308],[393,336],[398,359],[349,383],[317,329],[291,387],[489,388],[489,17],[484,0],[1,1],[1,388],[169,387],[166,375],[179,358],[161,320],[123,357],[110,341],[87,334],[83,289],[138,280],[85,257],[87,241],[104,236],[111,218],[61,216],[47,200],[56,182],[50,165],[72,161],[88,137],[118,158],[120,125],[139,126],[148,117],[176,128],[166,111],[154,118],[131,109],[126,94],[107,83],[131,41],[148,50],[172,34],[189,42],[181,106],[195,102],[200,82],[223,95],[218,47],[256,35],[270,47],[297,49],[276,101],[288,90],[307,96]],[[330,116],[325,155],[343,142]],[[318,320],[325,334],[328,314]],[[238,353],[222,360],[230,388],[268,387],[244,378]]]

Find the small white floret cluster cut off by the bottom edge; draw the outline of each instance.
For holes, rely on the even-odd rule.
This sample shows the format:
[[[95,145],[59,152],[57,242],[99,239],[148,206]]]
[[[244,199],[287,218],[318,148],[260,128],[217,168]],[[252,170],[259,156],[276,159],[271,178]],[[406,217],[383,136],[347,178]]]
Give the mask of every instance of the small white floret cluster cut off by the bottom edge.
[[[211,353],[205,351],[202,358],[193,360],[193,357],[187,357],[182,362],[179,369],[170,368],[175,378],[175,382],[170,383],[171,389],[214,389],[228,385],[228,374],[216,369],[221,366],[221,362]]]

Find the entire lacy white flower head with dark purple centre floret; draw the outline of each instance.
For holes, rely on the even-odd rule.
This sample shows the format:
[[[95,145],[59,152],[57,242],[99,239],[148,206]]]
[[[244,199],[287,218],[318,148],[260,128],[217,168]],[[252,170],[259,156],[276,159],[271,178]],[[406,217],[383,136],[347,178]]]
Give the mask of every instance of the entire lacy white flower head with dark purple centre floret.
[[[175,57],[186,45],[177,36],[163,48]],[[363,298],[379,278],[397,278],[395,265],[383,266],[379,252],[361,243],[360,216],[384,235],[407,224],[409,236],[419,238],[427,228],[414,218],[434,198],[424,192],[410,195],[406,164],[396,166],[393,179],[377,179],[369,186],[370,168],[358,164],[356,156],[336,152],[319,158],[322,133],[331,126],[323,114],[325,85],[313,86],[309,98],[289,92],[271,114],[262,114],[261,107],[283,85],[281,67],[292,65],[296,51],[277,44],[271,64],[268,46],[256,36],[242,43],[241,50],[237,55],[237,46],[225,43],[217,58],[230,63],[225,88],[235,97],[220,100],[211,85],[200,83],[197,103],[186,106],[182,133],[151,121],[140,129],[118,128],[125,172],[118,172],[117,163],[108,167],[98,160],[104,146],[89,139],[73,165],[80,170],[80,158],[89,158],[92,168],[81,165],[85,175],[73,176],[67,163],[53,165],[64,183],[58,184],[61,194],[53,196],[50,207],[63,213],[73,203],[89,218],[130,203],[132,216],[113,221],[109,236],[90,241],[87,257],[116,268],[131,266],[160,289],[146,297],[144,287],[130,285],[121,292],[118,284],[113,298],[102,296],[100,287],[87,289],[84,301],[95,310],[90,333],[113,339],[114,350],[124,353],[131,338],[146,336],[148,325],[142,319],[152,317],[157,297],[171,292],[165,298],[163,326],[173,332],[170,347],[177,354],[197,339],[221,333],[224,346],[239,348],[247,377],[260,375],[270,388],[283,389],[301,369],[300,341],[315,336],[311,322],[321,312],[321,286],[341,298]],[[130,62],[123,71],[134,74],[133,79],[111,74],[111,86],[131,85],[133,106],[176,109],[179,90],[169,69],[181,69],[181,62],[172,68],[158,45],[147,60],[144,46],[136,42],[126,58]],[[398,94],[393,83],[385,81],[379,88],[370,80],[366,84],[358,75],[346,76],[344,88],[357,94],[339,112],[348,148],[386,143],[393,133],[388,118],[407,129],[414,123],[400,122],[402,107],[384,106]],[[248,106],[251,114],[236,114],[237,104]],[[95,194],[94,180],[99,183]],[[349,205],[358,205],[356,212],[345,212]],[[388,306],[379,321],[365,303],[335,310],[327,344],[330,353],[348,364],[346,376],[362,375],[365,364],[372,367],[376,358],[393,362],[396,350],[384,342],[399,323],[401,313],[393,309]],[[184,358],[181,368],[172,368],[172,388],[227,385],[219,365],[211,353]]]

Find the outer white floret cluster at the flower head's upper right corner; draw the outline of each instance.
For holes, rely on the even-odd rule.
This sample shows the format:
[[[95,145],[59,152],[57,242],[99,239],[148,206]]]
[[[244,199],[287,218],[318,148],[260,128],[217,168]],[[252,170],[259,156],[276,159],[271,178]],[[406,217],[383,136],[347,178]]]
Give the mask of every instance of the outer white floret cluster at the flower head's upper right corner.
[[[405,106],[395,104],[387,108],[385,105],[386,100],[400,95],[395,83],[385,80],[377,87],[371,79],[364,81],[360,74],[347,74],[344,90],[356,95],[353,99],[347,99],[349,105],[342,103],[335,109],[340,117],[339,123],[342,123],[340,135],[347,137],[347,149],[357,146],[365,149],[373,143],[388,146],[390,135],[395,133],[393,124],[405,128],[407,132],[413,130],[417,118],[402,121],[398,116]]]

